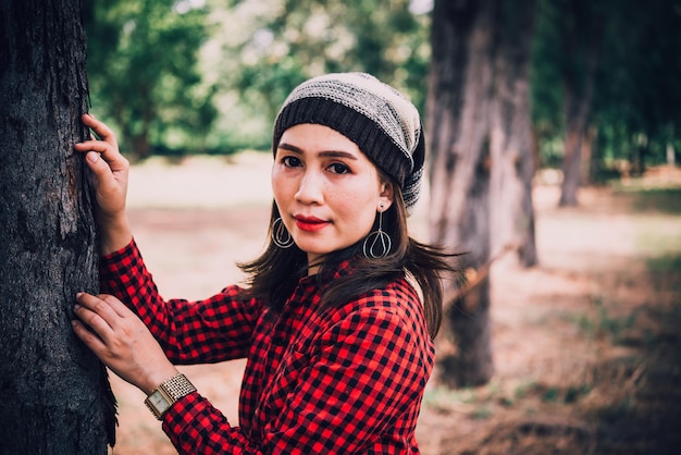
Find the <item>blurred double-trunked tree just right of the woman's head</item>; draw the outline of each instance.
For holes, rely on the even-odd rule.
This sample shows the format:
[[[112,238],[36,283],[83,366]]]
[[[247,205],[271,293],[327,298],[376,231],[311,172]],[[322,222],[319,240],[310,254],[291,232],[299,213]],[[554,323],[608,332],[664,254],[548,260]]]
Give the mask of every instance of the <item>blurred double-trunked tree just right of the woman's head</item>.
[[[482,384],[494,372],[484,268],[506,245],[525,251],[524,263],[536,261],[530,193],[532,11],[533,2],[524,0],[434,3],[425,122],[431,239],[467,253],[462,266],[476,273],[474,285],[449,306],[457,356],[441,364],[443,382],[453,386]]]

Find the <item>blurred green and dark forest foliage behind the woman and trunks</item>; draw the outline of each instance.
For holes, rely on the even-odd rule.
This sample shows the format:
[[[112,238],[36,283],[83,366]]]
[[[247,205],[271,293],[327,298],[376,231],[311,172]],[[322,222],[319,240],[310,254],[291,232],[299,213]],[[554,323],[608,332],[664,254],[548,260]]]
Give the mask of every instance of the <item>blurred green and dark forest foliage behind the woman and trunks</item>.
[[[115,0],[85,8],[92,110],[133,158],[268,150],[285,96],[325,72],[372,73],[424,111],[429,0]],[[540,0],[532,8],[538,165],[560,167],[568,83],[587,98],[586,182],[673,160],[681,146],[679,3]]]

